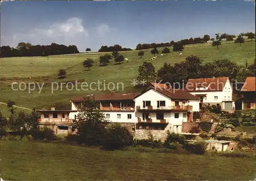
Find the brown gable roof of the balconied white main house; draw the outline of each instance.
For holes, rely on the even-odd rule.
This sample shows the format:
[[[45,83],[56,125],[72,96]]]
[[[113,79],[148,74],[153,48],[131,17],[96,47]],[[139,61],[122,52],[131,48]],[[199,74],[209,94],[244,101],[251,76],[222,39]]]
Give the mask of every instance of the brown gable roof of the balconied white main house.
[[[145,92],[147,92],[150,89],[155,89],[157,92],[171,98],[171,99],[182,99],[182,100],[199,100],[198,97],[187,93],[185,90],[182,89],[162,89],[162,88],[157,88],[157,87],[150,87],[147,90],[145,90],[144,92],[142,92],[141,94],[137,95],[136,97],[139,97],[140,95],[144,94]],[[135,98],[136,98],[135,97]]]

